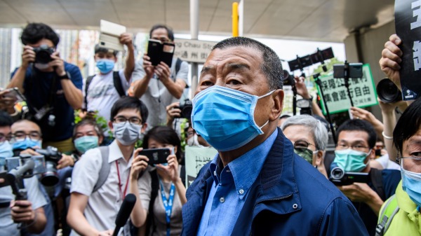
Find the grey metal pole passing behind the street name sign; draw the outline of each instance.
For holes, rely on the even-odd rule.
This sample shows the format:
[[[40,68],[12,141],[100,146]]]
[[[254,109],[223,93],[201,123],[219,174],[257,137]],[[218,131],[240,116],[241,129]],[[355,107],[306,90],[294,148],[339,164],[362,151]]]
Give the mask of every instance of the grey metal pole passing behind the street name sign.
[[[190,34],[192,39],[199,38],[199,0],[190,0]],[[192,87],[190,99],[194,97],[194,91],[196,91],[198,83],[198,63],[192,62]]]

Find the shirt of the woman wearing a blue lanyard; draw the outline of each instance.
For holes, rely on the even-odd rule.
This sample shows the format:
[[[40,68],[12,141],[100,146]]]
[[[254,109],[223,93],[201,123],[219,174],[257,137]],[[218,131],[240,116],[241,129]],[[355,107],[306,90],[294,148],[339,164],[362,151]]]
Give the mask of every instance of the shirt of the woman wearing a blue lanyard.
[[[181,166],[178,168],[178,172],[180,172]],[[145,174],[140,177],[140,186],[141,190],[139,191],[140,194],[140,201],[142,202],[142,207],[149,211],[149,202],[151,200],[151,192],[152,192],[152,179],[151,179],[151,171],[152,169],[149,168]],[[154,172],[155,173],[155,172]],[[168,199],[171,183],[163,182],[163,188],[166,193],[166,197]],[[182,204],[180,197],[176,191],[173,200],[173,210],[171,212],[171,235],[180,235],[182,230],[182,214],[181,214]],[[154,223],[156,226],[156,231],[153,232],[149,230],[150,236],[166,236],[166,211],[165,207],[163,207],[163,201],[161,196],[161,185],[159,185],[159,193],[156,195],[155,202],[154,202]]]

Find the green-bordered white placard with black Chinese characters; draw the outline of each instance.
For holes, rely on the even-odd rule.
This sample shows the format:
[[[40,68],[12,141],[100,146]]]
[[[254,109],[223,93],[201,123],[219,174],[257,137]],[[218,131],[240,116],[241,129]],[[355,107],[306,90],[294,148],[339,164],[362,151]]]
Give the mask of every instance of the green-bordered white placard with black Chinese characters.
[[[322,76],[319,79],[323,95],[328,104],[329,113],[348,111],[351,108],[351,102],[349,101],[347,88],[345,88],[344,78],[333,78],[333,74],[331,74]],[[319,86],[317,86],[317,92],[321,97]],[[369,64],[363,65],[363,78],[349,78],[349,92],[351,93],[354,106],[363,108],[378,104],[377,92]],[[323,99],[321,99],[321,105],[323,114],[326,115]]]

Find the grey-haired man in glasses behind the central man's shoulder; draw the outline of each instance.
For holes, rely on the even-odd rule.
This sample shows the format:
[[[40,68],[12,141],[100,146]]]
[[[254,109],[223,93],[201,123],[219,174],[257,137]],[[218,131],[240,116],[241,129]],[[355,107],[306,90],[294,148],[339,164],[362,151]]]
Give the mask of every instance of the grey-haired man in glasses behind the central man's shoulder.
[[[291,116],[281,125],[285,137],[294,144],[294,152],[328,177],[323,158],[328,145],[328,130],[316,118],[308,115]]]

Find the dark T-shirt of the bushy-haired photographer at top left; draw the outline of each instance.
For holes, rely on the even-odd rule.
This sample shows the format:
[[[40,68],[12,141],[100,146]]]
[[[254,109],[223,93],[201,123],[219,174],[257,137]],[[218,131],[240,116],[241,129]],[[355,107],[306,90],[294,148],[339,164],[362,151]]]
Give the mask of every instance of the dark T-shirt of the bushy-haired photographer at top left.
[[[18,68],[12,73],[12,78]],[[74,64],[65,62],[65,70],[76,88],[82,90],[81,71]],[[35,109],[41,109],[50,104],[53,106],[52,114],[55,116],[55,125],[48,124],[48,114],[41,120],[33,119],[41,127],[44,141],[62,141],[72,137],[74,127],[74,109],[65,97],[60,78],[53,72],[43,72],[28,67],[23,82],[24,95],[27,98],[29,112],[36,114]],[[55,81],[53,85],[53,81]]]

